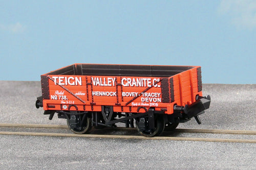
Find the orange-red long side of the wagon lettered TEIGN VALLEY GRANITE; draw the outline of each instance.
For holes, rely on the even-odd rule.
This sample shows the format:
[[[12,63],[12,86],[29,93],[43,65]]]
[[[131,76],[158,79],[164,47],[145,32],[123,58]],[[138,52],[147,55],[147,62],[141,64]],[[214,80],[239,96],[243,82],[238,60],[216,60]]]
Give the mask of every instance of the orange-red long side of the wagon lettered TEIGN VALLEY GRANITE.
[[[163,103],[169,103],[169,99],[163,101],[162,79],[157,77],[49,75],[48,78],[50,99],[46,105],[62,105],[48,108],[51,110],[65,110],[67,106],[63,106],[67,104],[77,106],[70,110],[77,110],[78,105],[90,105],[92,109],[88,111],[95,111],[94,107],[101,105],[150,108],[166,107]],[[166,80],[163,88],[168,92]]]

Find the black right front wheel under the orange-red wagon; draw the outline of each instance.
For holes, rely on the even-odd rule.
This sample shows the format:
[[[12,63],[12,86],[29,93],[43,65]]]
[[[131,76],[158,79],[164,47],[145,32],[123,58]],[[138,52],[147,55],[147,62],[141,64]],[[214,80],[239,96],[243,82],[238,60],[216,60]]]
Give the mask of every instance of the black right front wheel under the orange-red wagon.
[[[145,117],[146,119],[148,119],[147,117]],[[140,130],[138,127],[138,120],[136,120],[136,129],[138,130],[138,132],[146,137],[152,137],[152,136],[158,136],[160,135],[163,130],[164,130],[164,120],[162,116],[156,116],[155,117],[155,128],[154,129],[150,129],[148,128],[148,126],[146,126],[145,130]]]

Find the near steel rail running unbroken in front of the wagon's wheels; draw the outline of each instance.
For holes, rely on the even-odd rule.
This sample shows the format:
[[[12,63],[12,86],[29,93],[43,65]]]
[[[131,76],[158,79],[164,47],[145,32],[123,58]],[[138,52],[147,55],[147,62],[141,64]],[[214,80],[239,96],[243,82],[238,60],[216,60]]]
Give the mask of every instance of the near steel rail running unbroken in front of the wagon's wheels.
[[[219,138],[191,138],[191,137],[144,137],[130,135],[91,135],[91,134],[66,134],[66,133],[34,133],[34,132],[0,132],[1,135],[23,135],[23,136],[53,136],[53,137],[87,137],[87,138],[118,138],[118,139],[146,139],[146,140],[179,140],[179,141],[207,141],[207,142],[236,142],[256,143],[256,140],[248,139],[219,139]]]

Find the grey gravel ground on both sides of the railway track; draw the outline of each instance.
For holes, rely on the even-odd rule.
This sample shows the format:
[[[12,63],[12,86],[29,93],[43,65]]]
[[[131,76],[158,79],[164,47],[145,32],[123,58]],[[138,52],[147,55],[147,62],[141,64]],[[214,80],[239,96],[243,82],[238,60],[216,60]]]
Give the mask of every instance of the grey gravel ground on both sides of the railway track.
[[[66,125],[35,108],[40,93],[40,82],[0,81],[0,123]],[[256,130],[255,84],[204,84],[203,93],[212,102],[202,124],[178,128]],[[256,169],[255,143],[0,135],[0,146],[0,169]]]

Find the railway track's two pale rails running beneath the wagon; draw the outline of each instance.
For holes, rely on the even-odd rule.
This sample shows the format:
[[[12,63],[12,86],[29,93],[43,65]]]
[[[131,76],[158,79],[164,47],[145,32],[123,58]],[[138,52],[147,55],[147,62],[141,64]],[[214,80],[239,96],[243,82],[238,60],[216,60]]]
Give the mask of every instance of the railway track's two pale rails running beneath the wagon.
[[[68,129],[66,125],[33,125],[33,124],[0,124],[2,128],[50,128]],[[97,129],[94,129],[97,130]],[[135,128],[105,128],[104,130],[135,130]],[[241,130],[214,130],[214,129],[176,129],[178,133],[211,133],[230,135],[256,135],[256,131]],[[193,138],[193,137],[172,137],[157,136],[144,137],[139,135],[99,135],[99,134],[69,134],[69,133],[41,133],[41,132],[6,132],[0,131],[0,135],[26,135],[26,136],[57,136],[57,137],[87,137],[87,138],[118,138],[118,139],[146,139],[146,140],[184,140],[184,141],[209,141],[209,142],[238,142],[256,143],[254,139],[222,139],[222,138]]]

